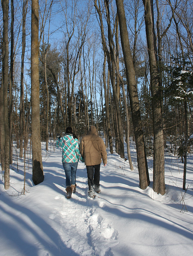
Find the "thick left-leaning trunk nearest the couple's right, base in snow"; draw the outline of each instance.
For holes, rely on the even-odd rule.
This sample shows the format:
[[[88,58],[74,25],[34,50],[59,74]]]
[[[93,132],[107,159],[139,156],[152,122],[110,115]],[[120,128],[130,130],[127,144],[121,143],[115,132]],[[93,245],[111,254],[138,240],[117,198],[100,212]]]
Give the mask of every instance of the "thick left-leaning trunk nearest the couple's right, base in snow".
[[[128,38],[123,0],[116,0],[116,6],[117,6],[118,19],[119,19],[121,44],[122,44],[124,62],[126,67],[128,92],[129,92],[129,99],[130,99],[131,112],[132,112],[132,121],[133,121],[134,134],[135,134],[135,140],[136,140],[140,188],[146,189],[147,186],[150,184],[150,178],[148,173],[148,164],[147,164],[146,151],[145,151],[145,145],[144,145],[142,122],[140,117],[136,76],[135,76],[135,70],[134,70],[134,65],[132,60],[132,54],[130,51],[130,43]]]

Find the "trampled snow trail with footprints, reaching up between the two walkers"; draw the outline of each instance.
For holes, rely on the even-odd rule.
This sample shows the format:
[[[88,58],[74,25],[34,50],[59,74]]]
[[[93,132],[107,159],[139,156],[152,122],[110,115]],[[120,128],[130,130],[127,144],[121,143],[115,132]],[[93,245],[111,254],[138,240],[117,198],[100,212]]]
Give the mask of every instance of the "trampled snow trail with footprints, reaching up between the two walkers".
[[[117,232],[98,211],[101,204],[99,197],[94,200],[89,198],[87,190],[87,179],[77,177],[76,193],[70,200],[63,195],[55,196],[55,200],[61,204],[61,210],[56,208],[49,218],[61,227],[57,232],[62,241],[80,255],[113,255],[110,248],[118,244]]]

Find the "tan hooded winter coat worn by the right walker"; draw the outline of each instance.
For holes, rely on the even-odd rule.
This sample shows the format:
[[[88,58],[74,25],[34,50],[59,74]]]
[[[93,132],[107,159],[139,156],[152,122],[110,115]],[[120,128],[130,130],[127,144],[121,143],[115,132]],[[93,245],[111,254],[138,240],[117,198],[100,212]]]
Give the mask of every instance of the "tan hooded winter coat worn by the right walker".
[[[91,126],[88,134],[82,138],[80,152],[85,158],[85,165],[97,165],[101,162],[107,164],[106,146],[102,138],[98,136],[95,126]]]

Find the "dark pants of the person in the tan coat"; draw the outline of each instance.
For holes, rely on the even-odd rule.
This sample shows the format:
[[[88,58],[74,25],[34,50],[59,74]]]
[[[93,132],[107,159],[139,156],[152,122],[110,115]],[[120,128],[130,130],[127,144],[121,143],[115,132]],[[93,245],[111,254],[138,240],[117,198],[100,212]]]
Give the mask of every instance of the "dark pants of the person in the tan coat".
[[[98,188],[100,186],[100,164],[97,165],[87,165],[87,176],[88,176],[88,185],[89,190]],[[94,178],[93,178],[94,177]]]

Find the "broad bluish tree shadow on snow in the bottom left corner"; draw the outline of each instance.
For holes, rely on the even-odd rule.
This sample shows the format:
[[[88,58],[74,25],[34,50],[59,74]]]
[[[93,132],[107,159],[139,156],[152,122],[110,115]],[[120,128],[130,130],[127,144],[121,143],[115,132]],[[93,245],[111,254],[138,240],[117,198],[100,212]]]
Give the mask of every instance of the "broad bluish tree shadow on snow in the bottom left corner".
[[[3,199],[2,196],[1,199]],[[16,250],[18,255],[39,255],[39,248],[41,248],[51,255],[78,256],[71,248],[67,248],[59,234],[44,220],[43,216],[41,218],[32,210],[15,204],[8,197],[5,199],[4,205],[0,205],[0,210],[8,218],[6,220],[0,218],[1,232],[4,234],[4,241],[10,244],[12,250]],[[17,211],[18,214],[12,213],[11,209],[13,212]],[[30,237],[32,241],[27,239]],[[38,241],[38,244],[34,244],[34,239]],[[41,247],[39,247],[40,244]]]

